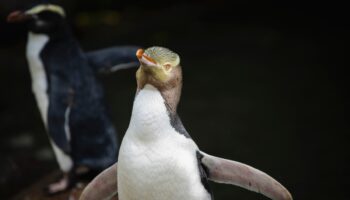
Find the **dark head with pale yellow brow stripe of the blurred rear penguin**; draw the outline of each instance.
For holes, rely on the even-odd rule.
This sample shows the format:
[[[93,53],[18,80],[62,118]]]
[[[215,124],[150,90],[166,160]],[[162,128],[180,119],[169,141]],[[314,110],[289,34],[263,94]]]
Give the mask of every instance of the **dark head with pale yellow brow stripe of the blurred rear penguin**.
[[[64,9],[54,4],[39,4],[26,11],[14,11],[7,16],[10,23],[25,23],[29,31],[52,35],[64,26]]]

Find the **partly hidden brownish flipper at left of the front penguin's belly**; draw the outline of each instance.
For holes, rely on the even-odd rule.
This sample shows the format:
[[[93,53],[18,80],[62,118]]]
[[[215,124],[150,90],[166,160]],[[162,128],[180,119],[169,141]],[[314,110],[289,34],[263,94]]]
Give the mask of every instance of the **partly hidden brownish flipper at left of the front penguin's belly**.
[[[107,200],[117,196],[117,170],[115,163],[101,172],[85,187],[79,200]]]

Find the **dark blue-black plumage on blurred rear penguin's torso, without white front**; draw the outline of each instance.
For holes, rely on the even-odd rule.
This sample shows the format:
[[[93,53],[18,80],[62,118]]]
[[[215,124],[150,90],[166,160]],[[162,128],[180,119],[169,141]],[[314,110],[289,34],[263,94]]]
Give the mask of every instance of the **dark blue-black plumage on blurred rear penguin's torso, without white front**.
[[[48,71],[51,138],[73,157],[74,164],[108,167],[116,161],[116,132],[107,114],[103,89],[84,53],[73,38],[64,37],[50,39],[40,58]],[[102,151],[95,152],[97,149]]]

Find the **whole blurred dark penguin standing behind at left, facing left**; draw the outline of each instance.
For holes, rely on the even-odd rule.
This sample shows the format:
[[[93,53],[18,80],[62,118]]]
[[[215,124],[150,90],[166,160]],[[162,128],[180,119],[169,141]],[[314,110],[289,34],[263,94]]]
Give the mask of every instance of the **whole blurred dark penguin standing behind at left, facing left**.
[[[7,21],[24,23],[28,29],[32,91],[64,174],[46,188],[47,193],[91,180],[118,155],[117,132],[96,73],[134,66],[136,47],[83,52],[65,21],[64,9],[54,4],[14,11]]]

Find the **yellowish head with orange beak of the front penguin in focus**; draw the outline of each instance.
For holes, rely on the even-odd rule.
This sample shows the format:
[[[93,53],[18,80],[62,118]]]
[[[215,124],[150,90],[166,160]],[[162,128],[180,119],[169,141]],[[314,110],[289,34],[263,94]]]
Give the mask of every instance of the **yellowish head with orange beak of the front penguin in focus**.
[[[140,61],[136,78],[139,88],[151,84],[158,89],[171,88],[182,81],[180,57],[164,47],[139,49],[136,56]]]

